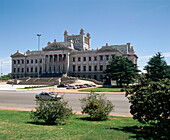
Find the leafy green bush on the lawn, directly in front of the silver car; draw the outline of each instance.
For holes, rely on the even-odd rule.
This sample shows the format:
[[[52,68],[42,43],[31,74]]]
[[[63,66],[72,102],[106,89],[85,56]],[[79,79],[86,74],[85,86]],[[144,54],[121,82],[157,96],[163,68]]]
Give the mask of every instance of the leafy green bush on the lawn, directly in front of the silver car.
[[[30,117],[34,122],[45,122],[46,124],[62,124],[62,122],[72,115],[72,109],[68,107],[67,102],[62,100],[44,100],[36,101],[36,111],[31,111]]]

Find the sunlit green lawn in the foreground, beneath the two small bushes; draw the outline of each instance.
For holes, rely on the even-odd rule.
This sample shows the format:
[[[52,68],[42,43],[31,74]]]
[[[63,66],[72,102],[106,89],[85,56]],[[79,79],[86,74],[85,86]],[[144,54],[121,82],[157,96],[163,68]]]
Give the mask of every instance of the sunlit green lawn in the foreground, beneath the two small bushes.
[[[109,117],[106,121],[89,121],[74,115],[65,125],[34,124],[26,111],[0,110],[0,139],[24,140],[125,140],[154,138],[130,117]]]

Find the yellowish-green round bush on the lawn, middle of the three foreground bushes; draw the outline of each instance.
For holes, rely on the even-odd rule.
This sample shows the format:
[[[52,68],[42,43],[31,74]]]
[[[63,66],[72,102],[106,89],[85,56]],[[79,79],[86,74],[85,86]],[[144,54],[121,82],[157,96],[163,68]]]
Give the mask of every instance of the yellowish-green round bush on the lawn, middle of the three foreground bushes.
[[[80,99],[83,109],[82,113],[90,115],[91,120],[106,120],[114,105],[104,95],[90,93],[87,97]]]

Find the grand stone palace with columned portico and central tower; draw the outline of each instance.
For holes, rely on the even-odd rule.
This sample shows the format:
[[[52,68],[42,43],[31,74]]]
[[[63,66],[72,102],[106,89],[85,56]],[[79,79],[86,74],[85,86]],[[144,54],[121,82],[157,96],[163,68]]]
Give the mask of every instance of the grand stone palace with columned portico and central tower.
[[[108,62],[114,56],[124,56],[137,64],[137,54],[130,43],[108,45],[91,50],[90,33],[84,29],[78,35],[64,32],[64,42],[48,42],[40,51],[19,50],[11,55],[12,77],[57,77],[62,74],[102,81]]]

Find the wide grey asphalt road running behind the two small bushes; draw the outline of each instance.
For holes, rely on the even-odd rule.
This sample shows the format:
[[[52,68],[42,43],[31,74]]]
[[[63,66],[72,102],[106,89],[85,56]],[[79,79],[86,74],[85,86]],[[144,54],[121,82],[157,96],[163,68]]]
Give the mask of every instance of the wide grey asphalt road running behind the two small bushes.
[[[36,106],[35,95],[40,91],[0,91],[0,106],[13,108],[34,108]],[[79,99],[85,97],[86,94],[65,93],[64,100],[68,101],[69,106],[74,111],[81,111]],[[123,94],[107,94],[105,95],[114,105],[112,113],[129,114],[130,104]]]

